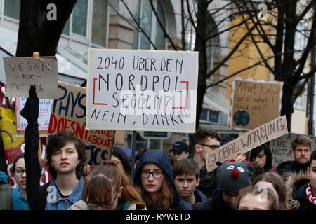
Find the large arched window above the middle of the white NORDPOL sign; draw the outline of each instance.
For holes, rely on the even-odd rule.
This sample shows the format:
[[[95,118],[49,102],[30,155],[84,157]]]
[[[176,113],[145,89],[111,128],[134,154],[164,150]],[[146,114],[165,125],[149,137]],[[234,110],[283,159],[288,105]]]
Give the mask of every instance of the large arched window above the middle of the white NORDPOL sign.
[[[161,1],[153,1],[156,8],[157,15],[164,29],[166,29],[166,16]],[[157,18],[152,12],[149,0],[139,0],[136,6],[136,20],[138,21],[141,29],[154,43],[157,50],[166,50],[166,38],[164,31],[160,27]],[[136,25],[137,27],[137,25]],[[138,28],[133,31],[133,49],[151,49],[150,41],[143,32],[139,32]]]

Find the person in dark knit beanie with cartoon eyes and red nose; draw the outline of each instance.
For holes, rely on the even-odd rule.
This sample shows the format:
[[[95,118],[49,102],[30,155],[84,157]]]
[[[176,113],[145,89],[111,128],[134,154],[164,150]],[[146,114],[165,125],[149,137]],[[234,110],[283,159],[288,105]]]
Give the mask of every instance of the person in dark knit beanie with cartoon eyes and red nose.
[[[218,162],[217,183],[213,197],[204,202],[197,202],[193,210],[232,210],[237,204],[239,190],[251,185],[254,167],[251,162],[227,160]]]

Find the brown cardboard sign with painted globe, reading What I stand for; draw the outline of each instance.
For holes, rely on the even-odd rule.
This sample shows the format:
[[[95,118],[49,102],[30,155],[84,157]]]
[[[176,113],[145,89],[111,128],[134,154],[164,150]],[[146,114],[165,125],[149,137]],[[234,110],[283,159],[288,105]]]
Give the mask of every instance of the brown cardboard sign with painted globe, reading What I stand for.
[[[282,82],[234,78],[228,126],[235,130],[253,130],[278,118],[282,88]]]

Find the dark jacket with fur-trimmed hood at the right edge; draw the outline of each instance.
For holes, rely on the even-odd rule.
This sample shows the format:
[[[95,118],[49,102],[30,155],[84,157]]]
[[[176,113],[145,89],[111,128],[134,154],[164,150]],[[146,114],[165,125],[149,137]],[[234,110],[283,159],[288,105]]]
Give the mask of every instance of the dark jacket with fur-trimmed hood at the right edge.
[[[284,180],[287,200],[292,210],[316,210],[316,206],[306,197],[306,187],[310,183],[307,174],[303,172],[284,174]]]

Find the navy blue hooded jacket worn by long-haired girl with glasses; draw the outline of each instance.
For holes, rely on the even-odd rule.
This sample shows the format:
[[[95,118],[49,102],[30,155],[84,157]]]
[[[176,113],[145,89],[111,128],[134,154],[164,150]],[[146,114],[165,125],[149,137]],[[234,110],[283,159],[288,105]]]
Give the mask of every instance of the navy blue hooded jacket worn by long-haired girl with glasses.
[[[162,150],[148,150],[146,151],[141,157],[140,160],[137,163],[137,167],[135,169],[135,174],[133,176],[134,183],[136,179],[140,178],[140,168],[143,167],[143,165],[146,162],[154,162],[156,163],[161,169],[164,170],[164,172],[169,176],[169,179],[171,180],[173,190],[174,190],[174,196],[173,196],[173,204],[171,206],[171,209],[174,210],[192,210],[189,204],[187,202],[180,200],[180,195],[178,191],[176,190],[176,185],[174,183],[174,177],[171,167],[171,162],[169,160],[169,156],[165,151]],[[147,207],[147,209],[149,209]]]

